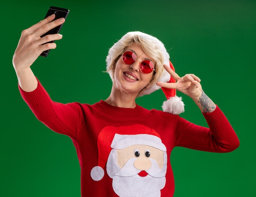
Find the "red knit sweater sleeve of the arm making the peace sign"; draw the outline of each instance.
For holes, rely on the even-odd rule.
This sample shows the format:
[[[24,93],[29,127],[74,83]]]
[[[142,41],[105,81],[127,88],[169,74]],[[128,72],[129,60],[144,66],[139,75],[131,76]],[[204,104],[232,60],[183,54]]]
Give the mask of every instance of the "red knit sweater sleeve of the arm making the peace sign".
[[[175,133],[176,146],[200,151],[227,153],[240,144],[229,121],[217,108],[211,113],[203,113],[209,128],[195,125],[179,117]]]

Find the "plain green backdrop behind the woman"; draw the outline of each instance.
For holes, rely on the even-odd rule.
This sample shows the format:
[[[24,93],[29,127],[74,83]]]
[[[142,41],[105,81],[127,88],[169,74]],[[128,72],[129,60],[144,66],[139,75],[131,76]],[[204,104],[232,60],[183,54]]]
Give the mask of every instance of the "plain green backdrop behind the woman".
[[[111,80],[106,55],[128,31],[164,42],[179,75],[194,73],[234,127],[240,147],[206,153],[177,147],[171,155],[175,197],[256,196],[255,0],[2,1],[0,196],[79,197],[80,167],[69,137],[40,123],[20,97],[12,55],[23,29],[42,20],[50,6],[70,9],[57,48],[32,70],[52,99],[93,104],[106,99]],[[207,126],[193,101],[181,116]],[[137,104],[161,109],[162,91]],[[90,151],[90,150],[88,150]],[[90,159],[90,158],[88,158]]]

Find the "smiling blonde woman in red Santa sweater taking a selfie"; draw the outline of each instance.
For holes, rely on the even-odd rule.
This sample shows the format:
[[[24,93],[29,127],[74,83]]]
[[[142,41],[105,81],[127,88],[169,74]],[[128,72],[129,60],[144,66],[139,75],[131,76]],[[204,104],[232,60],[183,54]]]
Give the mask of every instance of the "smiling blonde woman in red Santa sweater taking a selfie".
[[[202,91],[200,79],[179,77],[162,42],[141,32],[129,32],[109,50],[107,72],[110,96],[93,105],[53,102],[30,66],[47,49],[54,49],[60,34],[40,38],[64,22],[54,15],[22,31],[13,66],[20,93],[36,117],[57,133],[68,135],[81,166],[83,197],[169,197],[174,193],[170,164],[175,146],[224,153],[239,141],[225,115]],[[44,45],[42,45],[44,44]],[[177,82],[175,82],[177,81]],[[162,87],[168,101],[164,111],[138,106],[138,96]],[[181,118],[184,111],[175,90],[191,97],[209,128]]]

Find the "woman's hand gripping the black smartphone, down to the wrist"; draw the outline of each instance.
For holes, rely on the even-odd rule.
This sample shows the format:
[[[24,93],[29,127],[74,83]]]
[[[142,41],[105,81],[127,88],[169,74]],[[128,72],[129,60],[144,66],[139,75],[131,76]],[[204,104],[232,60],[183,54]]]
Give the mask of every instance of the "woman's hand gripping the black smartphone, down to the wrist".
[[[56,20],[53,13],[44,20],[41,20],[28,29],[24,29],[22,31],[18,46],[13,55],[13,66],[16,72],[24,73],[24,70],[27,70],[43,51],[46,53],[41,55],[46,57],[49,53],[48,49],[56,48],[56,44],[53,43],[54,41],[52,40],[61,40],[62,36],[57,32],[65,21],[61,20],[61,16],[58,18],[59,19]],[[50,31],[51,29],[55,29],[55,31]],[[53,33],[52,35],[44,36],[51,32]],[[54,34],[55,32],[56,34]],[[40,38],[40,36],[42,38]],[[40,39],[38,39],[38,37]]]

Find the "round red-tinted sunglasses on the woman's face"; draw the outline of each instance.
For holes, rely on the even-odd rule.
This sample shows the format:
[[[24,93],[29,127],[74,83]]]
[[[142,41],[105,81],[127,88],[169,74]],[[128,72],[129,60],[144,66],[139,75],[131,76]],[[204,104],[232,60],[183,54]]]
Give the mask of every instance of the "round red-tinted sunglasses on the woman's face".
[[[125,64],[131,65],[131,64],[134,64],[134,62],[136,62],[136,60],[139,60],[139,59],[137,59],[136,54],[132,51],[126,51],[122,54],[123,54],[122,60]],[[139,60],[139,61],[141,61],[141,60]],[[150,60],[143,60],[139,64],[139,70],[142,73],[146,73],[146,74],[151,73],[152,71],[155,71],[154,64]]]

